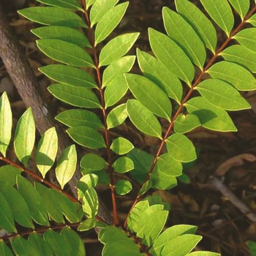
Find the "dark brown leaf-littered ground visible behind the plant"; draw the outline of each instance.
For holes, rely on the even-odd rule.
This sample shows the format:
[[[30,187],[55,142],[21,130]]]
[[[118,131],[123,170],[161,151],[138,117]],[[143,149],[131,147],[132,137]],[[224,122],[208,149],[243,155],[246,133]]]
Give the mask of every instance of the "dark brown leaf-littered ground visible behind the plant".
[[[20,3],[18,8],[28,7],[29,4],[17,0],[8,2],[9,4],[4,4],[7,19],[37,75],[43,96],[55,113],[69,108],[50,95],[47,86],[52,82],[38,71],[38,67],[52,64],[53,61],[36,47],[36,37],[31,34],[30,29],[37,25],[17,14],[17,4]],[[14,2],[16,6],[11,4]],[[152,27],[163,31],[162,7],[173,8],[173,5],[173,1],[166,0],[131,0],[124,20],[112,37],[139,31],[140,38],[130,54],[135,54],[136,48],[150,52],[147,29]],[[224,36],[220,34],[219,37],[222,41]],[[138,64],[132,72],[140,73]],[[16,124],[26,108],[0,60],[0,92],[2,91],[7,91],[10,97]],[[170,203],[167,225],[197,225],[197,234],[203,236],[198,248],[221,252],[222,255],[250,255],[246,241],[256,241],[256,220],[253,220],[256,215],[256,91],[244,92],[243,96],[252,105],[252,109],[230,113],[238,132],[213,132],[203,128],[190,132],[188,136],[198,151],[197,161],[184,170],[190,182],[179,182],[178,187],[170,191],[154,192]],[[159,144],[159,140],[141,135],[129,122],[113,132],[123,135],[136,147],[151,153],[154,153]],[[218,177],[221,182],[214,184],[211,176]],[[222,184],[225,186],[221,187]],[[118,198],[121,217],[127,214],[132,198],[134,195]],[[241,203],[248,207],[247,212],[242,213]],[[99,253],[99,244],[89,247],[91,254],[88,255]]]

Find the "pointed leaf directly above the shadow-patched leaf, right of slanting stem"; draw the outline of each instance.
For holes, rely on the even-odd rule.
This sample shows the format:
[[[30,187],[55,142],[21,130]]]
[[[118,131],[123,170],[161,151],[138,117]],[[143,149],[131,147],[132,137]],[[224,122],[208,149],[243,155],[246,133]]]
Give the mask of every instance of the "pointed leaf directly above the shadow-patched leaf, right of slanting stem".
[[[225,110],[244,110],[251,108],[230,84],[219,79],[207,79],[200,83],[196,90],[204,99]]]

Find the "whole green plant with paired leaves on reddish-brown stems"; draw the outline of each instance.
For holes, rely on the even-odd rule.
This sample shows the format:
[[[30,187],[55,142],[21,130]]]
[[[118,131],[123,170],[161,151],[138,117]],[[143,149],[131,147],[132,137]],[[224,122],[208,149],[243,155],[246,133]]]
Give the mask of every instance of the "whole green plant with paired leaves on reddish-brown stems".
[[[252,74],[256,72],[255,4],[200,0],[207,17],[190,1],[176,0],[176,11],[162,10],[166,34],[148,29],[154,56],[139,49],[137,56],[125,56],[139,33],[121,34],[102,48],[99,45],[120,23],[128,1],[82,0],[81,5],[76,0],[38,1],[46,7],[29,7],[19,13],[45,25],[31,32],[39,37],[39,50],[61,64],[39,70],[57,82],[48,87],[54,97],[77,107],[59,113],[56,120],[90,153],[79,163],[78,197],[64,191],[77,165],[75,145],[56,161],[60,187],[45,178],[53,170],[58,151],[54,128],[37,145],[38,174],[29,170],[35,141],[29,108],[14,135],[13,147],[22,165],[12,162],[6,156],[12,111],[7,94],[1,96],[0,159],[8,165],[0,167],[0,255],[86,255],[77,231],[92,228],[104,244],[102,255],[219,255],[192,252],[202,238],[195,235],[195,226],[164,230],[170,206],[160,197],[149,196],[148,189],[176,187],[177,178],[184,177],[183,163],[196,159],[195,146],[184,134],[200,126],[236,132],[227,110],[250,108],[238,91],[256,89]],[[236,27],[234,15],[240,19]],[[226,37],[218,47],[213,23]],[[143,75],[129,73],[136,57]],[[124,102],[127,91],[132,96],[128,94]],[[145,136],[159,139],[154,156],[111,132],[125,121]],[[162,125],[166,123],[167,127]],[[22,172],[34,178],[34,184]],[[113,223],[98,213],[100,184],[110,187]],[[137,196],[121,222],[116,196],[129,192]]]

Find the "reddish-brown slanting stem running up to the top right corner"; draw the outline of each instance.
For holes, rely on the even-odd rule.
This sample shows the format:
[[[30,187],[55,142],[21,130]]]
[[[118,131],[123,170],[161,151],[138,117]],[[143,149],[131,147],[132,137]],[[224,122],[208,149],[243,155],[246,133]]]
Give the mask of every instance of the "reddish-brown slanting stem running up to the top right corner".
[[[219,56],[219,53],[222,52],[222,50],[224,50],[224,48],[227,46],[227,44],[233,39],[233,36],[235,36],[238,31],[241,30],[241,28],[244,26],[244,24],[246,23],[246,20],[248,20],[256,11],[256,6],[254,8],[252,8],[252,10],[246,15],[246,17],[244,18],[244,20],[241,21],[241,23],[236,27],[236,29],[233,30],[233,32],[230,34],[229,37],[227,37],[227,39],[225,40],[225,42],[221,45],[221,47],[216,51],[216,53],[214,53],[214,56],[212,56],[212,58],[210,59],[210,61],[208,61],[208,64],[206,65],[206,67],[202,70],[202,72],[200,73],[200,75],[198,76],[198,78],[195,80],[195,82],[192,84],[192,87],[189,89],[189,92],[187,93],[187,95],[184,97],[183,101],[181,102],[181,105],[179,105],[178,110],[176,111],[175,115],[173,116],[172,121],[170,122],[170,125],[167,129],[167,132],[165,133],[164,138],[162,139],[162,142],[159,146],[159,149],[157,151],[157,154],[154,156],[154,160],[151,164],[151,167],[148,171],[148,174],[146,176],[146,180],[144,181],[143,184],[145,184],[149,179],[150,179],[150,174],[153,172],[154,167],[156,167],[157,165],[157,159],[159,157],[159,155],[162,153],[162,149],[165,146],[165,141],[167,140],[167,138],[170,136],[170,133],[173,130],[173,125],[176,121],[176,118],[178,117],[178,115],[181,113],[181,110],[183,109],[185,103],[189,100],[192,92],[195,90],[195,87],[200,83],[200,81],[203,79],[203,75],[206,74],[207,70],[214,64],[214,61],[217,59],[217,57]],[[143,187],[143,184],[141,185],[141,187]],[[138,200],[140,200],[141,195],[138,195],[134,201],[134,203],[132,204],[132,207],[127,215],[127,219],[124,222],[124,228],[127,227],[127,221],[128,221],[128,217],[130,212],[132,211],[132,209],[134,208],[134,206],[136,205],[136,203],[138,203]]]

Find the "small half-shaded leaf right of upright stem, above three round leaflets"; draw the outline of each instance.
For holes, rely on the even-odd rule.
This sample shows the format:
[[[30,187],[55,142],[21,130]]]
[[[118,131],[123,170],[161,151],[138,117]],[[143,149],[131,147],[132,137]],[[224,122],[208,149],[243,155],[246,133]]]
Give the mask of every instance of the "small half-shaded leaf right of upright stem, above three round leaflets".
[[[127,106],[125,103],[113,108],[113,110],[111,110],[108,114],[107,118],[108,129],[123,124],[127,116]]]

